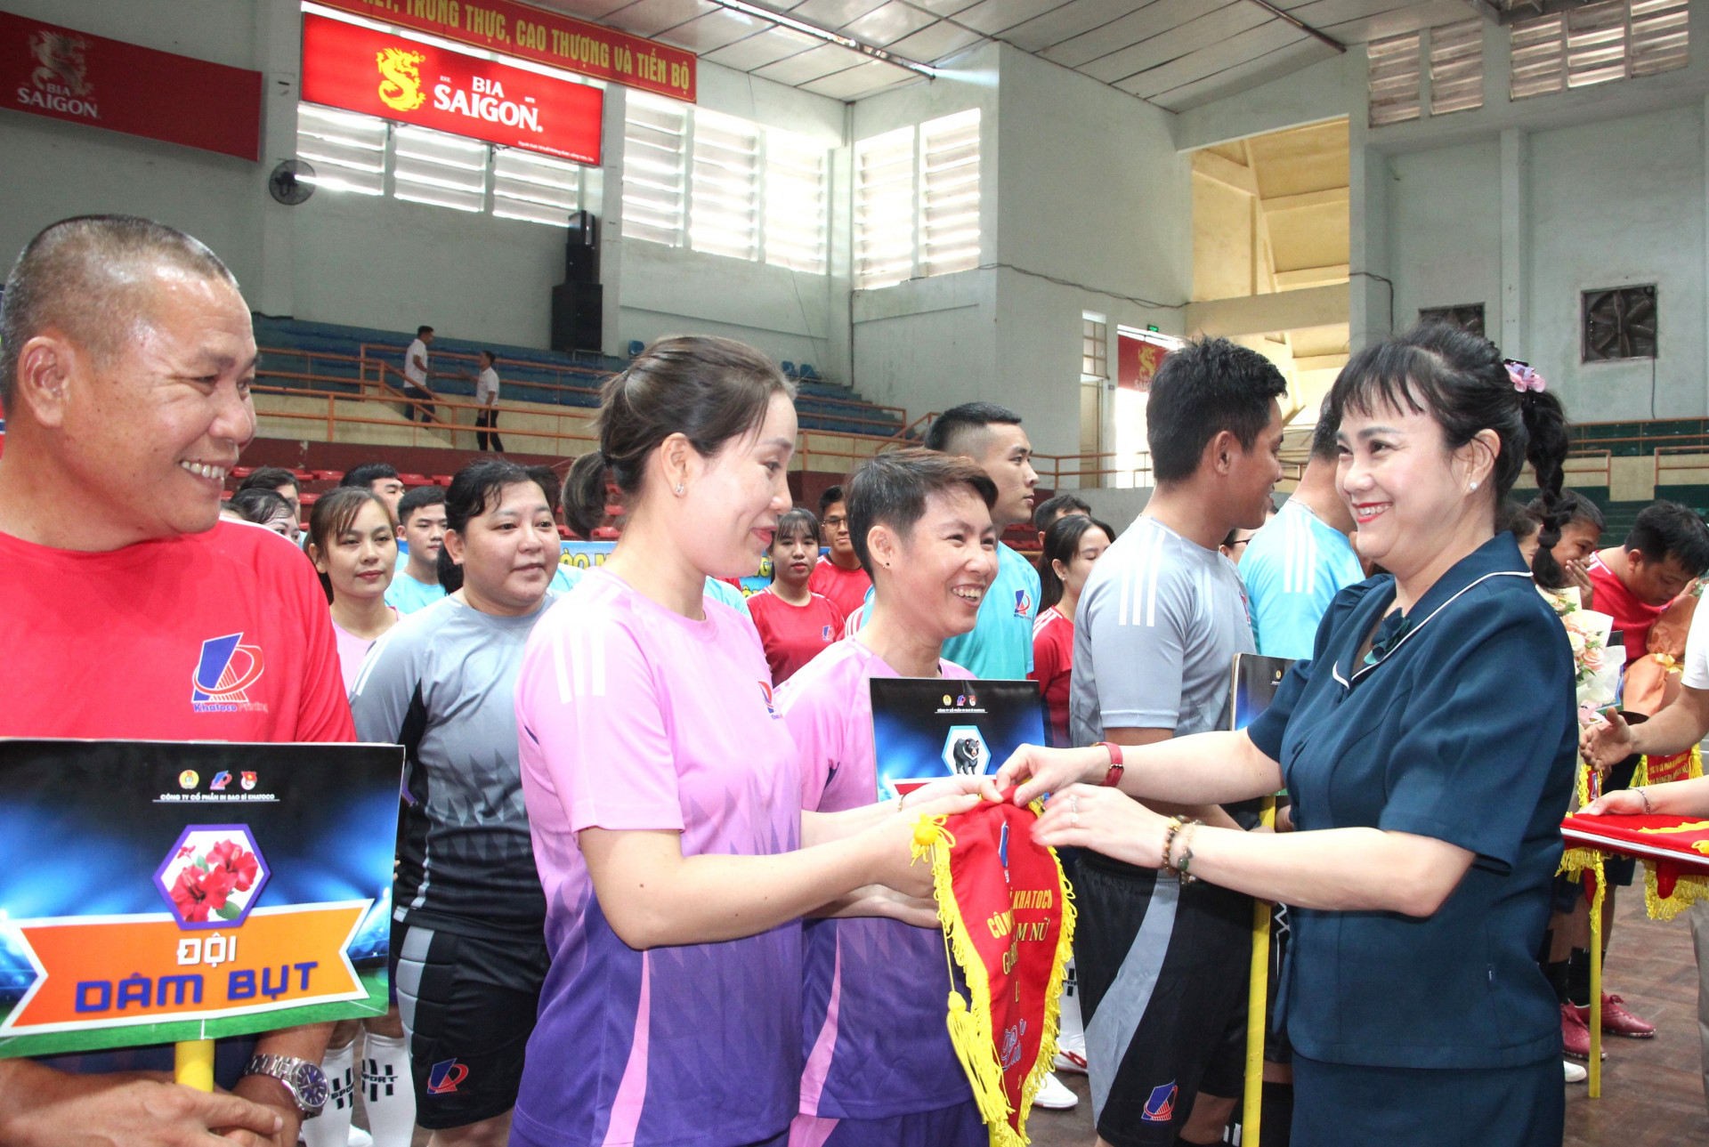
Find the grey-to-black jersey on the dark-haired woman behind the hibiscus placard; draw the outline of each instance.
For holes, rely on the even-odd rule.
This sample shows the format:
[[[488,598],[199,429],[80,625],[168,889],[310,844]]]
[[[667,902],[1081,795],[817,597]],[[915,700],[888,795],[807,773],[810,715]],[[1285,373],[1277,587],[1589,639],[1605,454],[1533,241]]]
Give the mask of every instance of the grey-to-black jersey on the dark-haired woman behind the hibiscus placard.
[[[465,933],[543,926],[516,675],[554,598],[525,617],[494,617],[448,597],[393,626],[362,662],[350,691],[355,733],[405,749],[400,921]]]

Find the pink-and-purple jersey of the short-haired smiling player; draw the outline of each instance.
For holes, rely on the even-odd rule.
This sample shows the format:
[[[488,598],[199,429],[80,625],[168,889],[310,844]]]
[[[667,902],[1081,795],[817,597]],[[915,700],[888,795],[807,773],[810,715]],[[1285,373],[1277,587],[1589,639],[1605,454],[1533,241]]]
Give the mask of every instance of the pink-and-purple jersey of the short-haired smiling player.
[[[967,670],[938,662],[943,677]],[[878,800],[873,677],[897,672],[858,639],[831,646],[778,689],[800,749],[802,803],[819,812]],[[950,974],[943,933],[896,920],[807,925],[802,1113],[884,1120],[972,1099],[943,1022]]]

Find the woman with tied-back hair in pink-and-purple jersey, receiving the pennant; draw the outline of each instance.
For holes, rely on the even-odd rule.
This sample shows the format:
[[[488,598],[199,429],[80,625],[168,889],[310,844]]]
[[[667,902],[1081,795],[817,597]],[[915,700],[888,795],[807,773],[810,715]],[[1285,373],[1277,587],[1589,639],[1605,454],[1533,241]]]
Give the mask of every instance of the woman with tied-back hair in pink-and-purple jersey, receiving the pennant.
[[[737,342],[668,338],[605,385],[600,453],[627,526],[535,627],[516,684],[552,969],[514,1147],[783,1144],[800,918],[930,892],[909,862],[916,802],[802,812],[754,626],[704,595],[771,544],[795,432],[790,383]],[[603,506],[588,472],[569,494]]]

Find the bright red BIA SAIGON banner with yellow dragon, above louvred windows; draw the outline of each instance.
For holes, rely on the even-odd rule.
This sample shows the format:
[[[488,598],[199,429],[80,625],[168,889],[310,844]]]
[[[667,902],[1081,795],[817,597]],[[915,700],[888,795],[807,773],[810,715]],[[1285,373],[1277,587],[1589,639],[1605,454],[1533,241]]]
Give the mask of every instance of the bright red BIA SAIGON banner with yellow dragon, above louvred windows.
[[[605,92],[461,51],[302,17],[302,99],[579,164],[600,162]]]

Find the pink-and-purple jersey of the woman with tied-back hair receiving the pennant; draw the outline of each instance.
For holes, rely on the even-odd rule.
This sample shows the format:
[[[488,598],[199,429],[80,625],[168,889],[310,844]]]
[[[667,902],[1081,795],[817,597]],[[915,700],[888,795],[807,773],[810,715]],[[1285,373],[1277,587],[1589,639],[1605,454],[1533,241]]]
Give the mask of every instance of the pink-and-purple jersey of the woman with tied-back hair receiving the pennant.
[[[636,952],[576,834],[675,829],[682,853],[798,846],[802,781],[752,624],[690,621],[590,569],[516,682],[523,795],[552,971],[511,1144],[735,1147],[783,1133],[802,1070],[802,930]]]

